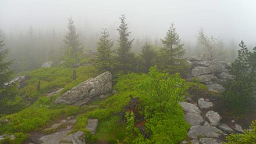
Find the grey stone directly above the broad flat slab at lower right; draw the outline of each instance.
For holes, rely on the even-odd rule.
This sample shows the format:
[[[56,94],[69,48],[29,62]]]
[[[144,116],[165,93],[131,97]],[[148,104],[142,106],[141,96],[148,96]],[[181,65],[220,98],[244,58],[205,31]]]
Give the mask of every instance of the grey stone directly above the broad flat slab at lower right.
[[[204,124],[204,118],[196,113],[186,113],[184,115],[185,120],[190,123],[191,126]]]

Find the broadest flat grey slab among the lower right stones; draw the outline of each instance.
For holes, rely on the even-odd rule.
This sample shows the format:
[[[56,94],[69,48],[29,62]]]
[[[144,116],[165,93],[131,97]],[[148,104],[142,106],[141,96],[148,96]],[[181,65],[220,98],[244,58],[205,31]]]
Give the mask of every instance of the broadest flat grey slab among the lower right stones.
[[[224,133],[218,128],[209,125],[195,125],[190,127],[189,132],[187,132],[187,136],[189,136],[191,139],[198,139],[198,136],[218,138],[220,134]]]

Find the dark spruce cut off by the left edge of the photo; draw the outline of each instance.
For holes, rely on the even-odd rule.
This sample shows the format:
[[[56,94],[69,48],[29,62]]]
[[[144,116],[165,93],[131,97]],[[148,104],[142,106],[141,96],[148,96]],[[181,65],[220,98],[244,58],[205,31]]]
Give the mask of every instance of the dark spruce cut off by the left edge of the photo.
[[[1,38],[1,33],[0,33]],[[3,48],[4,46],[3,40],[0,39],[0,88],[5,87],[10,78],[12,78],[13,71],[9,70],[10,64],[12,64],[12,60],[6,62],[6,56],[9,53],[9,49]]]

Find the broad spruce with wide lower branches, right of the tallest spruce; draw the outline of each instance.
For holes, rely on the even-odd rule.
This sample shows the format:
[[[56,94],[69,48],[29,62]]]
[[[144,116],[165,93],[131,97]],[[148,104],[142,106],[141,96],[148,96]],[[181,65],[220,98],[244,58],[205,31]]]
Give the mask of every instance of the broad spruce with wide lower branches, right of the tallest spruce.
[[[189,70],[189,65],[183,58],[185,49],[183,49],[183,44],[180,44],[180,37],[176,32],[174,23],[170,25],[166,37],[161,39],[161,42],[163,47],[158,55],[159,69],[166,70],[171,74],[179,72],[185,75]]]

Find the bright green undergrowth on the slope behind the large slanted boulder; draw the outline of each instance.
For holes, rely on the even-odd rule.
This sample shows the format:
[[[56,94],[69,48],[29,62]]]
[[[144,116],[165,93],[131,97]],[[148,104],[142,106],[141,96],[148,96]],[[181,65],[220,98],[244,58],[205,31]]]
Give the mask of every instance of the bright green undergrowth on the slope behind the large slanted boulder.
[[[73,88],[80,82],[86,81],[95,74],[93,66],[77,67],[77,78],[73,80],[73,69],[65,67],[42,67],[27,73],[23,73],[29,77],[25,81],[25,87],[19,90],[20,96],[29,96],[35,98],[38,95],[53,92],[58,88],[64,88],[62,93]],[[37,91],[38,81],[40,81],[40,91]]]

